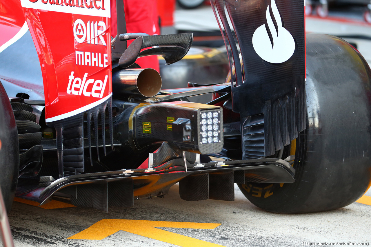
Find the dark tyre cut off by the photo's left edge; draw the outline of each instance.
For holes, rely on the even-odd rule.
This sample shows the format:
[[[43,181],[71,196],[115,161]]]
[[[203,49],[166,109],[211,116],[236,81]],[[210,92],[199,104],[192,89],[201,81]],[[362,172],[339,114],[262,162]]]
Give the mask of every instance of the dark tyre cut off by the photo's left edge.
[[[9,98],[0,82],[0,187],[5,207],[12,207],[19,170],[16,121]]]

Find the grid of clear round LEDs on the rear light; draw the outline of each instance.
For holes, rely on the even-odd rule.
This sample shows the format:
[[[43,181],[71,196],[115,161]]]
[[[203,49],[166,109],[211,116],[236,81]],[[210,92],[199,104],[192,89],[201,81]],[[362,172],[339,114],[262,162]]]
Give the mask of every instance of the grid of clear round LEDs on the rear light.
[[[210,110],[200,112],[200,144],[221,142],[220,111]]]

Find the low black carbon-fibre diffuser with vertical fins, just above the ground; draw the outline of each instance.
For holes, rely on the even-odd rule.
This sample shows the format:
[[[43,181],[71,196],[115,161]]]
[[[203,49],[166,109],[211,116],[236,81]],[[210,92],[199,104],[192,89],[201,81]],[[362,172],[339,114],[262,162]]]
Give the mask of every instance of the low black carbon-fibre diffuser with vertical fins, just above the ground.
[[[193,168],[180,166],[181,159],[168,161],[169,169],[133,169],[71,175],[47,187],[19,182],[16,196],[40,205],[52,195],[69,197],[72,204],[108,211],[108,206],[132,207],[134,199],[163,197],[179,182],[180,197],[187,201],[234,200],[234,183],[291,183],[295,169],[282,159],[209,162]],[[187,162],[188,163],[188,162]]]

